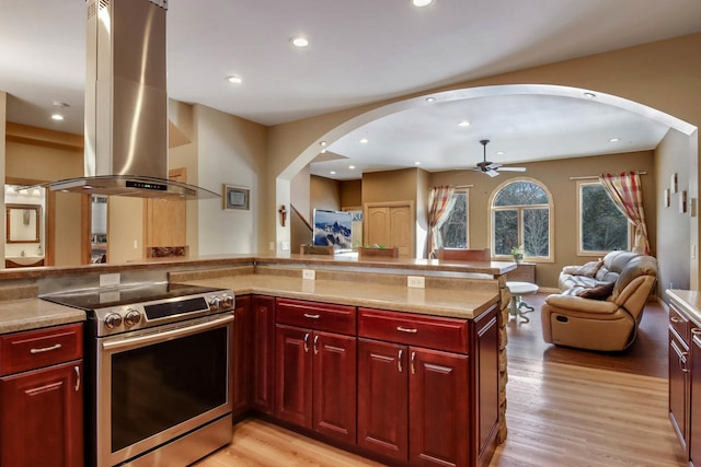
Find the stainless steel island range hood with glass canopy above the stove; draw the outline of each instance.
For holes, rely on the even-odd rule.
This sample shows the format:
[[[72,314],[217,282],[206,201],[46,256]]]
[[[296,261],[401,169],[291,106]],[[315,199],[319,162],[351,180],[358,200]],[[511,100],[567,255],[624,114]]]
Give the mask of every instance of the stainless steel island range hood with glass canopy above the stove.
[[[168,179],[168,0],[88,0],[84,176],[51,190],[216,198]]]

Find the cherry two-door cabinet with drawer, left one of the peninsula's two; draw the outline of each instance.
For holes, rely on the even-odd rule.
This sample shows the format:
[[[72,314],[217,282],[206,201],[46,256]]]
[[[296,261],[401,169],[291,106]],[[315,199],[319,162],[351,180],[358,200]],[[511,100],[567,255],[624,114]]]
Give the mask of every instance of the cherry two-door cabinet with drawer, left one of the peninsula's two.
[[[276,310],[275,416],[355,444],[355,308],[278,299]]]

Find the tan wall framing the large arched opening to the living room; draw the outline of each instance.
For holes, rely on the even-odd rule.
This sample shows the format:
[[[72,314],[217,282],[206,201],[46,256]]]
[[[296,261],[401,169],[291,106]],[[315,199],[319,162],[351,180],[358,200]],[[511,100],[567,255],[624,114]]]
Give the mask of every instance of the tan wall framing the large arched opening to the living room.
[[[462,82],[432,90],[432,92],[524,83],[575,86],[639,102],[699,127],[701,125],[701,93],[699,93],[701,60],[696,58],[699,50],[701,50],[701,34],[693,34]],[[407,95],[404,98],[409,97],[411,96]],[[361,125],[364,117],[370,118],[365,113],[395,101],[379,102],[371,106],[356,107],[272,127],[268,138],[268,189],[274,192],[271,192],[271,199],[279,202],[289,198],[289,192],[285,192],[284,189],[278,189],[275,192],[278,187],[285,187],[285,184],[277,184],[277,180],[291,177],[309,163],[318,154],[318,143],[321,139],[333,142],[343,133]],[[676,155],[680,165],[690,173],[689,196],[692,198],[698,198],[697,141],[698,132],[692,136],[690,152]],[[590,166],[584,168],[587,168],[587,173],[591,171]],[[658,192],[663,189],[663,182],[653,179],[652,184],[652,191]],[[560,211],[558,212],[560,213]],[[648,214],[648,220],[656,223],[655,215]],[[699,244],[698,217],[691,218],[690,223],[689,242],[691,248],[694,248]],[[665,229],[664,225],[662,227]],[[664,231],[660,234],[664,235]],[[288,233],[284,229],[274,229],[268,232],[268,235],[284,238]],[[560,234],[555,232],[555,235]],[[476,242],[476,238],[474,241]],[[558,241],[560,242],[560,237]],[[658,259],[664,261],[667,252],[657,246],[655,245],[655,249]],[[690,287],[697,289],[699,287],[699,255],[690,259],[689,269]],[[545,275],[545,277],[551,276],[550,272]]]

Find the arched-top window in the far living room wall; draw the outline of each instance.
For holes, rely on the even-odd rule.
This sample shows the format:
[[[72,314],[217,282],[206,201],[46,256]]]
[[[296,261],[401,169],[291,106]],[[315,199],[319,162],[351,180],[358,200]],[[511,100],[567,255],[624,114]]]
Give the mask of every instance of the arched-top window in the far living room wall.
[[[501,185],[491,203],[493,255],[510,259],[512,249],[522,246],[527,260],[552,260],[551,200],[545,187],[533,179]]]

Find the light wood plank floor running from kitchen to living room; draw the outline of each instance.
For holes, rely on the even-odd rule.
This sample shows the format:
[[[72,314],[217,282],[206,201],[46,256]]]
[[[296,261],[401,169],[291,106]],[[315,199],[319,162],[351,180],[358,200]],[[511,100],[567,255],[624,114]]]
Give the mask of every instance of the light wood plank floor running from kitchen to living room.
[[[542,343],[538,307],[543,296],[529,297],[537,307],[530,323],[512,320],[507,327],[508,437],[490,466],[687,466],[667,418],[667,380],[659,376],[666,374],[664,308],[646,307],[643,323],[655,326],[645,328],[647,337],[633,350],[610,355],[556,349],[566,350],[570,360],[564,361],[561,354],[549,357],[553,348]],[[645,349],[636,348],[641,342]],[[642,370],[636,361],[640,354],[660,353],[662,359],[648,360],[652,369]],[[229,446],[196,464],[378,465],[260,420],[239,423]]]

